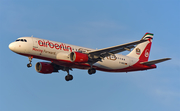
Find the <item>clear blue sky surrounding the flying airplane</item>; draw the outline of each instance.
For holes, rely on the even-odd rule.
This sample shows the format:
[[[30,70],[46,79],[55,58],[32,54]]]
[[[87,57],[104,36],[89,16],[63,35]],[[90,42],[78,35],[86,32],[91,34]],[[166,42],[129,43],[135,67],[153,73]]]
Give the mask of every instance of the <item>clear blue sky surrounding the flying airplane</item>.
[[[0,111],[180,111],[179,0],[0,0]],[[8,45],[31,36],[106,48],[154,33],[157,69],[43,75]],[[122,54],[128,54],[123,52]]]

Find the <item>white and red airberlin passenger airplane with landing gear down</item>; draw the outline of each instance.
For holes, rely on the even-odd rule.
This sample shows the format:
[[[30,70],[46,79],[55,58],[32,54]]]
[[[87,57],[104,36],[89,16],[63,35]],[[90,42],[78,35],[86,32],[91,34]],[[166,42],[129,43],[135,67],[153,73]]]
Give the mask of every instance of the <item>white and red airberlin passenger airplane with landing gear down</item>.
[[[156,68],[157,63],[170,60],[163,58],[148,61],[152,33],[146,33],[141,40],[116,45],[103,49],[90,49],[71,44],[45,40],[41,38],[20,37],[9,44],[9,49],[17,54],[27,56],[31,67],[32,59],[42,59],[49,62],[37,62],[35,70],[42,74],[51,74],[59,70],[66,71],[66,81],[73,80],[69,73],[73,68],[86,69],[90,75],[96,70],[105,72],[131,72]],[[130,51],[127,55],[118,54]]]

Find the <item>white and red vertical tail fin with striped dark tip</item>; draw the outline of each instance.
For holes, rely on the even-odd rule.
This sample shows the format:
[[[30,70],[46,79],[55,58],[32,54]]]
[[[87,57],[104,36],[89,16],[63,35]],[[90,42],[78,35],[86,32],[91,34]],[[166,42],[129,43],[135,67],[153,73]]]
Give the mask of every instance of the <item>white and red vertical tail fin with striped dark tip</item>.
[[[127,56],[138,58],[141,61],[148,61],[153,34],[146,33],[141,40],[148,40],[146,42],[138,44]]]

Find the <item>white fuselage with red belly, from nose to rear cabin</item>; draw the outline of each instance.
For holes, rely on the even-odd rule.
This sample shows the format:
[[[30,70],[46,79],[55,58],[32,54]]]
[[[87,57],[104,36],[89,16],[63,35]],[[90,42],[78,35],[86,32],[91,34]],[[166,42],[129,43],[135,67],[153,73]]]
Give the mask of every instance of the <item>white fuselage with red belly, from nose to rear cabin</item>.
[[[58,65],[71,66],[72,68],[80,69],[88,69],[90,65],[87,63],[72,64],[69,59],[69,54],[77,51],[88,52],[94,50],[35,37],[18,38],[17,41],[9,45],[9,48],[21,55],[33,56],[34,58],[54,61]],[[139,59],[137,58],[115,54],[105,57],[101,62],[93,64],[93,67],[102,71],[121,72],[120,69],[131,67],[138,61]]]

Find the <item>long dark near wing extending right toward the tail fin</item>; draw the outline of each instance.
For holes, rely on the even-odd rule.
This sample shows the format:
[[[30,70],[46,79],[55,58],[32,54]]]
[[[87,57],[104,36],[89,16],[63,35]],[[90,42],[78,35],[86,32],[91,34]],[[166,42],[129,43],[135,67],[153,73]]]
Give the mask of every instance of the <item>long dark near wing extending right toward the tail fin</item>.
[[[107,56],[110,56],[113,54],[117,54],[117,53],[123,52],[125,50],[130,51],[130,49],[134,48],[134,45],[140,44],[145,41],[147,41],[147,40],[138,40],[138,41],[122,44],[122,45],[117,45],[117,46],[113,46],[113,47],[90,51],[87,54],[91,57],[92,60],[94,60],[94,62],[97,62],[104,57],[107,57]]]

